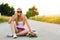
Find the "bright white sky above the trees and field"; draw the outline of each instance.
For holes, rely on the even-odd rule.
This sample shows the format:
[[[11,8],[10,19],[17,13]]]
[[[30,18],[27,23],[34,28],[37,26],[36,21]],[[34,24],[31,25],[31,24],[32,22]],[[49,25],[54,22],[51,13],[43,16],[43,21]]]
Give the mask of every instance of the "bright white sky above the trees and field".
[[[35,5],[39,15],[60,15],[60,0],[0,0],[1,3],[8,3],[15,10],[21,8],[24,14]]]

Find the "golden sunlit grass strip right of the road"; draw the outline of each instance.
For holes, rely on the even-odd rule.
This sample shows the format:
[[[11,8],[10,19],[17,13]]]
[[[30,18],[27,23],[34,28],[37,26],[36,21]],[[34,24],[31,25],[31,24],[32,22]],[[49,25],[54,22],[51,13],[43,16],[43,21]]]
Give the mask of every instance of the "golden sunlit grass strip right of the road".
[[[60,24],[60,16],[34,16],[30,17],[31,20],[48,22],[48,23],[55,23]]]

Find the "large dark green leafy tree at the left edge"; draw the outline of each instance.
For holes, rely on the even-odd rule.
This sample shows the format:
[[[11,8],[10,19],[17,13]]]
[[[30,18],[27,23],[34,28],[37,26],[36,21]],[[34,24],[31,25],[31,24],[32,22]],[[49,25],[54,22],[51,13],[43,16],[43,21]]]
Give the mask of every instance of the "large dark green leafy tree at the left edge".
[[[0,5],[0,13],[1,15],[4,15],[4,16],[12,16],[14,14],[14,8],[13,7],[10,7],[8,5],[8,3],[5,3],[5,4],[1,4]]]

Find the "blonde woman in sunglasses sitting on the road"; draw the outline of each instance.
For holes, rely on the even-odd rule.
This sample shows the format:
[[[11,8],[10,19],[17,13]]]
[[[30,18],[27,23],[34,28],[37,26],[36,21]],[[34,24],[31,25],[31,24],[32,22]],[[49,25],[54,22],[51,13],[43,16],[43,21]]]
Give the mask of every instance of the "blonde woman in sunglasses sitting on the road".
[[[20,8],[17,9],[16,13],[9,19],[8,23],[10,24],[14,38],[17,36],[26,35],[28,33],[28,31],[24,28],[25,24],[27,25],[29,32],[32,33],[27,17],[22,14],[22,10]]]

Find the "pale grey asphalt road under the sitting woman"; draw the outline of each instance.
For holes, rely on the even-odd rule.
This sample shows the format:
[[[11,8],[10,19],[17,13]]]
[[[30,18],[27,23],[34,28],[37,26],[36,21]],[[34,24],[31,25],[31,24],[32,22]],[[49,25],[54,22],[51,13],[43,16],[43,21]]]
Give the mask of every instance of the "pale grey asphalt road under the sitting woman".
[[[0,24],[0,40],[60,40],[60,25],[33,20],[28,20],[28,22],[32,29],[36,30],[37,38],[18,37],[13,39],[12,37],[7,37],[6,35],[11,33],[11,30],[8,23],[5,22]]]

